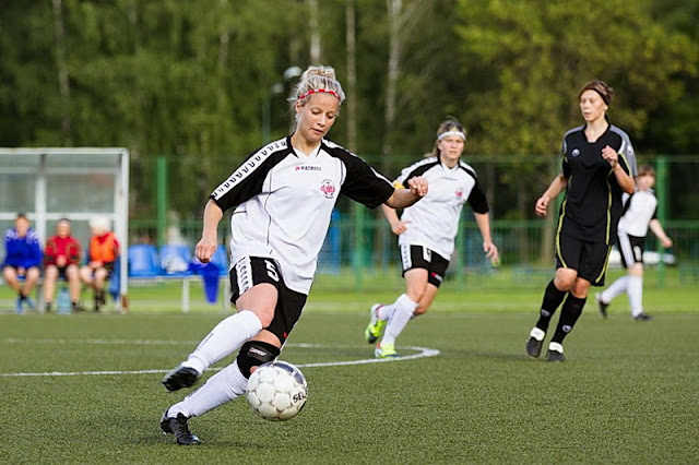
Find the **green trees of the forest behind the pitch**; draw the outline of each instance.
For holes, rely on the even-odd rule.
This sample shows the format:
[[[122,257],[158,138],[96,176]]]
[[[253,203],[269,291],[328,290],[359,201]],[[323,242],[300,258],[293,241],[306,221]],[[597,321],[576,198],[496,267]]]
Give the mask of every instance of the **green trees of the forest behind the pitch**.
[[[698,19],[699,0],[3,0],[0,146],[129,148],[137,218],[164,156],[170,208],[198,216],[289,132],[289,69],[322,63],[347,94],[331,140],[392,178],[454,116],[489,194],[509,187],[498,217],[529,218],[591,79],[640,162],[697,153]]]

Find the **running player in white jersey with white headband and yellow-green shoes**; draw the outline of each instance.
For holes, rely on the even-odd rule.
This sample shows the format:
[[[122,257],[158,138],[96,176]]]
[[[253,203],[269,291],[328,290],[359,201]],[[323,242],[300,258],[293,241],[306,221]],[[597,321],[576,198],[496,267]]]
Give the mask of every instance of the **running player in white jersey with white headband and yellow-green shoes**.
[[[454,250],[464,203],[469,202],[473,210],[486,257],[493,263],[499,261],[498,249],[490,238],[488,201],[478,186],[476,171],[461,160],[465,142],[466,131],[459,121],[443,121],[437,130],[431,156],[403,169],[395,180],[395,186],[402,186],[415,176],[423,176],[429,182],[428,194],[405,208],[400,218],[394,208],[382,206],[391,230],[399,236],[406,290],[391,305],[371,307],[365,337],[374,344],[383,334],[375,349],[378,358],[398,356],[396,337],[412,318],[425,313],[433,303]]]

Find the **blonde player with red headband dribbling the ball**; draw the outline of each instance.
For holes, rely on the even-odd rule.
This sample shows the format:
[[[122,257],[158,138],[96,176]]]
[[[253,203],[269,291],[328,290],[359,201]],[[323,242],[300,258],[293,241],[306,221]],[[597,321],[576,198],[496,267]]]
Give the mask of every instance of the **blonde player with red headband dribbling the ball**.
[[[206,203],[196,249],[204,263],[218,245],[223,212],[235,207],[230,284],[238,312],[220,322],[163,384],[168,391],[189,388],[211,365],[240,350],[232,365],[165,410],[161,429],[178,444],[199,444],[189,418],[240,396],[251,372],[279,356],[306,303],[340,193],[371,208],[382,203],[406,207],[427,193],[425,178],[396,189],[359,157],[323,139],[344,97],[332,68],[309,67],[289,98],[294,133],[253,152]]]

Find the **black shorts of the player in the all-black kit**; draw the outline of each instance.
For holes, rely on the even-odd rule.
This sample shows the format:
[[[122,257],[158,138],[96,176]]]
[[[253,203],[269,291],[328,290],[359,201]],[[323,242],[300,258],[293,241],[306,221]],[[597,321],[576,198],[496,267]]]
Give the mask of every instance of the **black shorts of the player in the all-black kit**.
[[[589,281],[593,286],[604,286],[611,251],[612,247],[604,242],[588,242],[558,235],[556,269],[576,270],[578,277]]]

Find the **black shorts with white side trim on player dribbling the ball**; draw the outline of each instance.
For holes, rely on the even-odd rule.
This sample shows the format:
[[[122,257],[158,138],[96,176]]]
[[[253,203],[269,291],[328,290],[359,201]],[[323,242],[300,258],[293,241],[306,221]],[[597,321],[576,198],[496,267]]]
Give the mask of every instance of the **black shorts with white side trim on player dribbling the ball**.
[[[308,296],[286,287],[282,271],[274,260],[246,257],[230,269],[230,290],[233,293],[230,302],[235,305],[242,294],[252,286],[262,283],[273,285],[279,293],[274,318],[265,330],[279,337],[284,344],[300,318]]]

